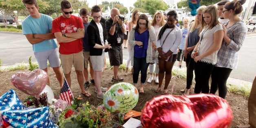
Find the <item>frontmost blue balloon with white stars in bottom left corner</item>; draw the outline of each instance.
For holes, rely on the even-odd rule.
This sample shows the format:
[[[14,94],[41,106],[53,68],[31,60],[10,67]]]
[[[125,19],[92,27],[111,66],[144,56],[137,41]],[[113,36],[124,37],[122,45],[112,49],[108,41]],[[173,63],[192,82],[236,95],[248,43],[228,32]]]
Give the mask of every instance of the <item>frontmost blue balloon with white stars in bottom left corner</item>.
[[[2,113],[2,120],[5,128],[58,128],[49,113],[49,107],[9,110]]]

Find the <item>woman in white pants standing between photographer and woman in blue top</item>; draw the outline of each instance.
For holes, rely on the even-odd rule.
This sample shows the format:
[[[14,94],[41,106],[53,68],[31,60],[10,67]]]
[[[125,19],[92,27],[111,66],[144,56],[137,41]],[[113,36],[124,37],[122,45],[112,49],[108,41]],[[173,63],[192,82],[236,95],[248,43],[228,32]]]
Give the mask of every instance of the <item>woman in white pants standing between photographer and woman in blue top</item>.
[[[132,13],[132,20],[128,23],[128,31],[129,31],[129,33],[128,33],[128,37],[129,37],[129,34],[130,34],[130,31],[132,30],[132,28],[133,27],[135,27],[136,25],[137,25],[137,20],[138,20],[138,18],[139,18],[139,10],[138,9],[136,9],[136,10],[134,10],[133,11],[133,13]],[[131,64],[131,47],[130,47],[130,45],[129,45],[129,42],[128,42],[128,59],[127,59],[127,61],[126,61],[126,71],[125,71],[125,75],[127,75],[128,74],[128,70],[129,70],[129,66],[130,66],[130,64]],[[133,74],[133,67],[132,67],[132,74]]]

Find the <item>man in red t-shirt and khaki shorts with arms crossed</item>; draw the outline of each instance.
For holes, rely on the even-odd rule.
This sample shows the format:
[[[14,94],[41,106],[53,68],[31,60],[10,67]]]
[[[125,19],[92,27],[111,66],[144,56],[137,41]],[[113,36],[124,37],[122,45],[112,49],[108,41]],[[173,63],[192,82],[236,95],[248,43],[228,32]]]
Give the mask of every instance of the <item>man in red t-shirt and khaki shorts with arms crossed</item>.
[[[71,86],[71,68],[75,67],[77,81],[82,95],[90,97],[90,93],[84,90],[84,55],[82,38],[84,38],[84,25],[81,18],[71,15],[72,5],[68,0],[60,2],[62,15],[53,20],[53,34],[60,44],[60,61],[64,76]]]

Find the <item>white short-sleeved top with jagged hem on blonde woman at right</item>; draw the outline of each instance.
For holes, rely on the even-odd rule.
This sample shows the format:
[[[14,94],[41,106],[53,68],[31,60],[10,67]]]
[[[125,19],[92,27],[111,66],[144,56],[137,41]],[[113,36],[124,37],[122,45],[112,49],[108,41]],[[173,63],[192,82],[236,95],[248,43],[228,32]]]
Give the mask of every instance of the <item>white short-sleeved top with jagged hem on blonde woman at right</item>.
[[[201,42],[199,43],[199,46],[197,48],[198,51],[198,55],[202,55],[203,53],[205,53],[206,51],[208,51],[211,47],[213,47],[214,44],[214,33],[218,30],[223,30],[222,29],[222,24],[217,24],[216,26],[214,26],[212,29],[208,29],[207,27],[205,27],[202,32],[200,33],[200,40]],[[216,64],[217,63],[217,53],[218,50],[215,51],[214,53],[212,53],[211,55],[208,55],[206,57],[203,57],[201,60],[199,60],[200,62],[206,62],[206,63],[210,63],[210,64]]]

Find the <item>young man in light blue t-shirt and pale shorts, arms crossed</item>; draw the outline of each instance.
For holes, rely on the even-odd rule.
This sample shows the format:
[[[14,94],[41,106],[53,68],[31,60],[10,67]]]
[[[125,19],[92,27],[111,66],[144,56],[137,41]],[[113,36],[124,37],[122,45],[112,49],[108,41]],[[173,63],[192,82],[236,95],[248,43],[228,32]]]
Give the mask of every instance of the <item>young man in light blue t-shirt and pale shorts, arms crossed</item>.
[[[30,14],[22,22],[22,32],[26,36],[26,39],[32,44],[38,66],[47,73],[47,61],[49,61],[60,87],[62,87],[63,81],[57,44],[53,40],[55,36],[51,33],[53,18],[38,12],[39,7],[37,0],[22,0],[22,3]],[[51,86],[49,77],[48,85]]]

